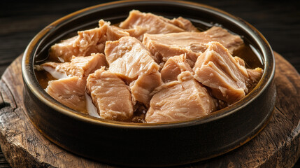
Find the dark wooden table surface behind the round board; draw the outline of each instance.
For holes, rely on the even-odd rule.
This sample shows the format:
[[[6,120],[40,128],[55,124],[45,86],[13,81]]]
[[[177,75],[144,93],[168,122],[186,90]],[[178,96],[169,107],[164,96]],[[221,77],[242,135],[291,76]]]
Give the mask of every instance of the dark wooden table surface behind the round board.
[[[64,15],[107,1],[0,1],[0,76],[24,52],[38,31]],[[264,34],[273,50],[300,72],[299,1],[197,1],[248,21]],[[1,123],[0,123],[1,124]],[[0,153],[0,168],[10,167]],[[300,161],[294,167],[300,168]]]

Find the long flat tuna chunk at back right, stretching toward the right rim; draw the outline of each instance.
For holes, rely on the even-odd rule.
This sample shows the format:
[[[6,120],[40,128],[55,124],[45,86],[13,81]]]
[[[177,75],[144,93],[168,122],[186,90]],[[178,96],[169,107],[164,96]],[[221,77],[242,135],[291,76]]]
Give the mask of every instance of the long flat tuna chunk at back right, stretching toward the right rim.
[[[145,34],[143,38],[143,44],[159,63],[166,62],[174,55],[186,54],[190,66],[194,66],[194,62],[206,50],[206,44],[210,41],[222,43],[230,52],[243,44],[240,36],[230,34],[221,27],[212,27],[203,32]]]

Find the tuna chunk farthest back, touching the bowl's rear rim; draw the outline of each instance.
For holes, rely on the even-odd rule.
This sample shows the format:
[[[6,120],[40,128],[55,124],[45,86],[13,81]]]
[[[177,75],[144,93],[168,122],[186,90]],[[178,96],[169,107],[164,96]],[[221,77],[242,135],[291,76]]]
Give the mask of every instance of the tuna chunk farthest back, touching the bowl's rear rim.
[[[183,18],[169,20],[152,13],[141,13],[138,10],[131,10],[124,22],[120,23],[122,29],[129,29],[130,36],[143,39],[143,34],[168,34],[183,31],[197,31],[189,20]],[[130,29],[135,29],[132,31]],[[131,32],[131,33],[130,33]]]

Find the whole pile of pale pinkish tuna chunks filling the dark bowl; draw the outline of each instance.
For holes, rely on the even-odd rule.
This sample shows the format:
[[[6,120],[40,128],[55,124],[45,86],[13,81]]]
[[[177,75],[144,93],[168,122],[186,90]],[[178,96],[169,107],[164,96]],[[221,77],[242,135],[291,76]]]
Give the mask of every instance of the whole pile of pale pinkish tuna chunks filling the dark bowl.
[[[168,123],[207,116],[250,92],[263,69],[234,55],[241,36],[213,26],[199,31],[182,17],[131,10],[120,25],[99,27],[52,45],[36,65],[45,91],[96,118]],[[41,78],[39,78],[41,81]]]

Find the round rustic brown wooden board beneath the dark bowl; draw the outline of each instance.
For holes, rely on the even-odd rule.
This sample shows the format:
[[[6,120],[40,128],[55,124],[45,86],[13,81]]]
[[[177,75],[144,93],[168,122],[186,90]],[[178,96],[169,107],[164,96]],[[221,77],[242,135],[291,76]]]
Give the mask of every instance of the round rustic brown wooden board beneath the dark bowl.
[[[268,125],[247,144],[217,158],[181,167],[292,167],[300,156],[300,75],[278,53],[276,108]],[[12,167],[115,167],[52,144],[24,112],[22,55],[0,80],[0,145]]]

